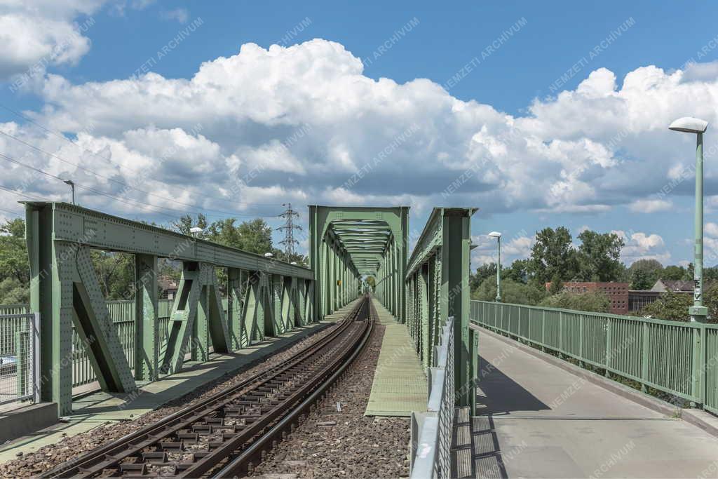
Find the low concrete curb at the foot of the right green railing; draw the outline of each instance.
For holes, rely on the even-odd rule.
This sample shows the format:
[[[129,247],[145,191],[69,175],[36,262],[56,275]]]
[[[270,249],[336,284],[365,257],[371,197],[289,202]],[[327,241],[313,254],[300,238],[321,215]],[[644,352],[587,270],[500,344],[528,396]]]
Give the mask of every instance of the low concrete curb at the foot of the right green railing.
[[[666,401],[662,401],[661,399],[649,396],[648,394],[642,393],[641,391],[637,391],[636,389],[630,388],[628,386],[624,386],[623,384],[617,383],[616,381],[612,381],[609,378],[600,376],[597,373],[587,371],[584,368],[579,368],[579,366],[574,366],[572,363],[556,358],[555,356],[552,356],[548,353],[544,353],[543,351],[533,348],[529,345],[525,345],[523,343],[519,343],[516,340],[507,338],[496,332],[488,330],[485,327],[481,327],[479,325],[471,325],[471,327],[472,329],[478,330],[484,334],[490,335],[493,338],[501,340],[508,345],[512,345],[518,350],[522,350],[524,353],[528,353],[538,359],[546,361],[546,363],[549,363],[552,366],[556,366],[557,368],[561,368],[564,371],[579,376],[580,378],[584,378],[586,381],[600,386],[603,389],[607,389],[608,391],[611,391],[618,396],[628,399],[629,401],[633,401],[637,404],[640,404],[641,406],[647,407],[648,409],[651,409],[661,414],[665,414],[666,416],[680,417],[689,424],[693,424],[694,426],[703,429],[705,432],[708,432],[709,434],[718,437],[718,417],[713,416],[707,411],[703,411],[701,409],[681,409]],[[481,340],[479,339],[479,348],[480,347]]]

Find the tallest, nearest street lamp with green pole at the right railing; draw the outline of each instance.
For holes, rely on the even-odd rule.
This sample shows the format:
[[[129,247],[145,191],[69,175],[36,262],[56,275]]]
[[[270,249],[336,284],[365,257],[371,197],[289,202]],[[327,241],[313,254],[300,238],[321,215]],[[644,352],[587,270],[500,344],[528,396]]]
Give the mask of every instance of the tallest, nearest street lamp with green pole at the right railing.
[[[708,308],[703,305],[703,133],[708,122],[684,116],[673,121],[668,129],[696,134],[696,218],[693,250],[693,306],[688,308],[692,322],[706,322]]]

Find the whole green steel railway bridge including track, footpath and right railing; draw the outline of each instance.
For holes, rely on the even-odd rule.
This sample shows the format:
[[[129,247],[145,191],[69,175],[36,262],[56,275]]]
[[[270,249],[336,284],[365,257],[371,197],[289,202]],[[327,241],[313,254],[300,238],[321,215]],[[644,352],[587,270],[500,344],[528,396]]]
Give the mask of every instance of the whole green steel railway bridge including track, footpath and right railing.
[[[411,477],[718,477],[718,326],[472,301],[477,208],[434,208],[410,239],[408,207],[311,205],[304,267],[77,205],[24,204],[31,299],[0,309],[2,353],[18,351],[0,392],[12,383],[29,405],[0,415],[0,472],[60,434],[275,358],[201,404],[37,470],[242,475],[381,325],[364,414],[411,417]],[[106,301],[92,249],[134,255],[134,299]],[[169,302],[157,295],[161,258],[182,264]],[[23,430],[47,414],[70,428]]]

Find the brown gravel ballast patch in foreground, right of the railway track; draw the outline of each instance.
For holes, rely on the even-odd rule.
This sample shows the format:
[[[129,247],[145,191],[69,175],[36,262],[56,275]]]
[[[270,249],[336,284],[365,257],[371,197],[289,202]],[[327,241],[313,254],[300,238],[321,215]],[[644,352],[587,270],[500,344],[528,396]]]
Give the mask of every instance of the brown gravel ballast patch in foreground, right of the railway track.
[[[364,416],[384,329],[375,323],[367,347],[347,373],[251,475],[283,479],[409,475],[409,419]]]

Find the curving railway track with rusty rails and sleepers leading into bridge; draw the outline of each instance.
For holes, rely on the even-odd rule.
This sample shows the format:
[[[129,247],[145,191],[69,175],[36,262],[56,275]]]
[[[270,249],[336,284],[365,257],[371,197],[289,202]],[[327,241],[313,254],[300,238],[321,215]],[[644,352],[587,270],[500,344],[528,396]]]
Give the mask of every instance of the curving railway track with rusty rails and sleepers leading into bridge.
[[[368,340],[375,318],[370,299],[364,297],[325,338],[271,370],[40,477],[242,475],[281,440],[353,361]]]

